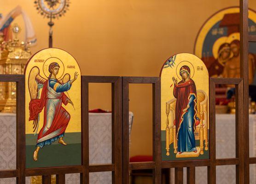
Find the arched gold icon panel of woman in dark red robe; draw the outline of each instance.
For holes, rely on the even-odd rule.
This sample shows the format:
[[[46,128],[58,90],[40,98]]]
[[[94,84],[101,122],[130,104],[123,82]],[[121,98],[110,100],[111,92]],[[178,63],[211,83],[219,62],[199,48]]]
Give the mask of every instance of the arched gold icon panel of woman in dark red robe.
[[[209,74],[190,53],[170,57],[161,70],[162,159],[209,159]]]

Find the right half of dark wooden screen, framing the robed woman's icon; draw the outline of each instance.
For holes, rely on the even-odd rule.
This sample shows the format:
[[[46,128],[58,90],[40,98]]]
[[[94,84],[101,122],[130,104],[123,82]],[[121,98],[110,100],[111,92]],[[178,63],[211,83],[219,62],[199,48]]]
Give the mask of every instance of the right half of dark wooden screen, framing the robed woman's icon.
[[[129,84],[153,84],[153,161],[152,162],[129,162]],[[216,159],[215,143],[215,85],[233,84],[236,86],[236,157]],[[187,167],[187,183],[195,184],[195,166],[208,167],[208,184],[216,183],[216,166],[236,165],[237,183],[244,181],[244,124],[243,124],[243,80],[242,79],[216,79],[210,78],[210,131],[209,147],[210,159],[190,161],[162,161],[161,160],[161,136],[160,136],[160,100],[156,98],[160,94],[160,78],[156,77],[122,77],[123,93],[123,184],[129,184],[129,172],[138,169],[152,169],[154,171],[154,183],[161,184],[161,169],[175,168],[175,184],[183,183],[183,167]],[[159,88],[159,89],[158,89]],[[159,95],[160,96],[160,95]],[[159,116],[159,117],[158,117]]]

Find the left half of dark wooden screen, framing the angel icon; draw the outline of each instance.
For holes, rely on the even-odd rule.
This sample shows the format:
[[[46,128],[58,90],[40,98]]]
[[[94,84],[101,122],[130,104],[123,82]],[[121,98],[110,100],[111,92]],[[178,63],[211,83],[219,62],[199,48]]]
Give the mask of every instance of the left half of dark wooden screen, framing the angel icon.
[[[122,80],[121,77],[82,76],[82,163],[81,166],[25,168],[25,111],[24,75],[0,75],[0,82],[17,83],[17,166],[14,170],[0,171],[0,178],[17,178],[17,184],[25,184],[25,177],[42,176],[42,184],[65,184],[65,174],[81,173],[80,183],[89,184],[89,173],[112,172],[112,183],[122,183]],[[112,164],[89,165],[88,136],[88,84],[112,84]]]

